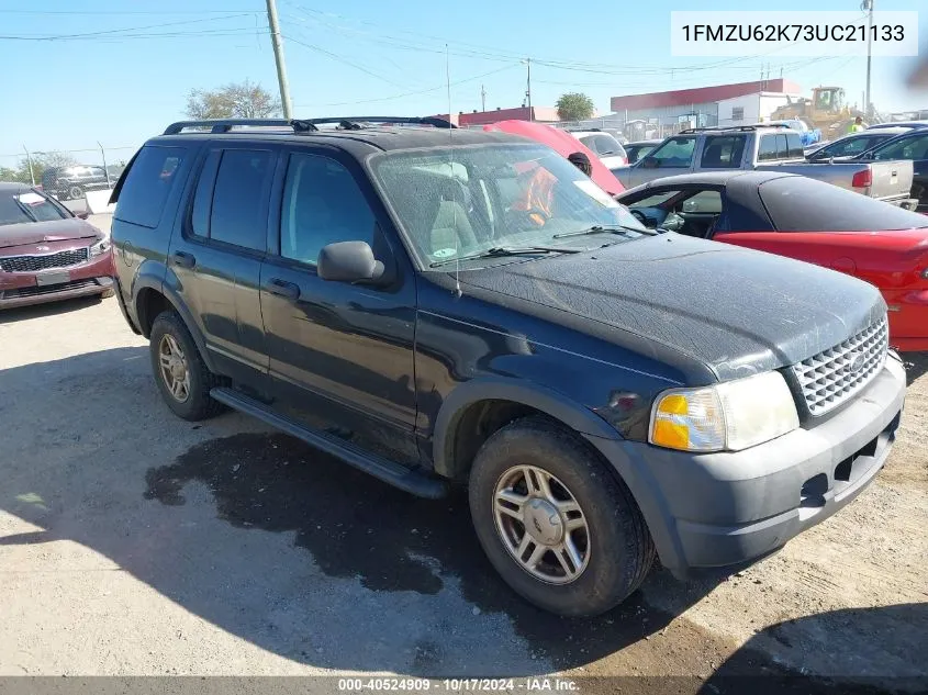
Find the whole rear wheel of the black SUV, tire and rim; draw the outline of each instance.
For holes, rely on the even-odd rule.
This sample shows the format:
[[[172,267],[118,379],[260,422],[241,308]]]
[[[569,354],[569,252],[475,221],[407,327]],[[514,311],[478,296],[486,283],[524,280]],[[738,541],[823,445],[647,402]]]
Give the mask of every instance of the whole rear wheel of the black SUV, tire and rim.
[[[210,397],[210,390],[221,385],[180,316],[166,311],[155,318],[149,341],[155,382],[168,407],[183,419],[212,417],[222,405]]]

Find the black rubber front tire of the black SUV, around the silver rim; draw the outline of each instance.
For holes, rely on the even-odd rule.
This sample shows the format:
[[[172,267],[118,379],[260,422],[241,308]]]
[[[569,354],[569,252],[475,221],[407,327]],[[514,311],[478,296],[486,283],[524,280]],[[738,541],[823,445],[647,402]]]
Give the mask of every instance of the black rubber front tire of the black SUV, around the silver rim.
[[[548,487],[563,508],[570,506],[571,498],[579,505],[579,512],[568,513],[574,518],[580,514],[579,518],[585,523],[584,528],[569,535],[577,550],[573,557],[583,560],[580,567],[573,567],[579,570],[575,578],[569,579],[567,568],[572,563],[566,550],[560,552],[566,553],[567,563],[558,560],[554,550],[546,551],[532,570],[516,560],[517,550],[512,549],[515,541],[511,535],[518,535],[521,523],[512,524],[508,515],[497,515],[495,498],[497,485],[505,486],[504,480],[515,480],[508,477],[518,467],[533,467],[552,477]],[[506,490],[525,493],[521,485],[526,482],[523,479]],[[653,542],[628,487],[578,435],[545,418],[527,417],[511,423],[483,444],[470,471],[469,498],[473,526],[490,562],[518,594],[551,613],[562,616],[604,613],[638,588],[653,562]],[[533,500],[530,494],[527,498],[530,502],[519,508],[538,505],[530,513],[541,513],[543,516],[535,518],[541,518],[544,525],[555,507],[545,507],[544,501]],[[559,520],[549,520],[546,531],[558,524],[567,528],[571,523],[570,516],[555,514],[560,515]],[[523,540],[529,536],[527,524],[522,525]],[[533,524],[540,534],[541,527],[535,520]],[[562,547],[566,546],[564,539]],[[532,551],[529,543],[529,557],[534,554]],[[547,576],[534,573],[544,571],[548,572]],[[557,572],[563,572],[564,576],[555,576]]]

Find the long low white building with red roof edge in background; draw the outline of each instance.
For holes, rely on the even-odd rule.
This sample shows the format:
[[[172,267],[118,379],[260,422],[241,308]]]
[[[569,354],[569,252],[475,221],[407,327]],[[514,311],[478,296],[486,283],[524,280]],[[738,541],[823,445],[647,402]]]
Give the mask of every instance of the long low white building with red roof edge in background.
[[[613,97],[615,119],[645,121],[661,132],[682,127],[750,125],[769,121],[773,111],[802,96],[802,87],[778,78],[649,94]]]

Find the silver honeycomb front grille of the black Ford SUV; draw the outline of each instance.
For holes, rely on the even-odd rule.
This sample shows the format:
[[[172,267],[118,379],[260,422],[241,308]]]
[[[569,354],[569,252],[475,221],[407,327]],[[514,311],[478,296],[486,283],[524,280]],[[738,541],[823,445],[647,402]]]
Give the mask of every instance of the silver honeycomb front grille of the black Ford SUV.
[[[853,397],[880,373],[888,347],[884,315],[843,343],[793,365],[808,412],[824,415]]]

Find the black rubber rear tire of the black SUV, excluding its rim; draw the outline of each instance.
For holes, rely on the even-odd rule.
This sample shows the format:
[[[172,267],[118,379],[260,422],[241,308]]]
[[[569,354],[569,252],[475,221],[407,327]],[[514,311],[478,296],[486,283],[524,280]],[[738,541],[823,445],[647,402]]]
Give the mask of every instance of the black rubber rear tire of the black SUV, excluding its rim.
[[[172,393],[168,377],[161,369],[163,346],[170,346],[171,341],[174,347],[180,349],[185,362],[183,371],[188,377],[183,399]],[[166,311],[155,318],[148,347],[155,383],[158,384],[161,397],[175,415],[197,422],[222,412],[222,404],[210,397],[210,390],[224,385],[224,380],[213,374],[206,367],[190,330],[176,312]]]

